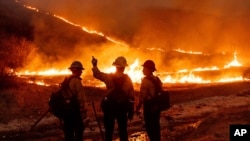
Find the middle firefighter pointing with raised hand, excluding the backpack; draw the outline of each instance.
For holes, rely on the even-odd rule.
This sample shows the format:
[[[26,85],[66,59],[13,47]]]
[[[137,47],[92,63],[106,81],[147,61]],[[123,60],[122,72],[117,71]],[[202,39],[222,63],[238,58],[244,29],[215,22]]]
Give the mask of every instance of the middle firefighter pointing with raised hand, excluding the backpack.
[[[116,58],[116,60],[113,62],[113,66],[116,67],[115,73],[104,73],[101,72],[97,67],[97,59],[92,57],[92,72],[93,76],[96,79],[99,79],[103,81],[107,88],[107,94],[110,94],[115,89],[114,80],[117,80],[119,78],[122,78],[124,75],[124,70],[127,65],[127,61],[123,56],[120,56]],[[112,141],[113,131],[114,131],[114,125],[115,120],[117,120],[118,123],[118,130],[119,130],[119,137],[120,141],[128,141],[128,132],[127,132],[127,122],[128,119],[132,120],[133,113],[134,113],[134,88],[133,83],[130,79],[130,77],[125,77],[122,83],[122,90],[123,92],[129,97],[130,99],[130,105],[128,108],[129,111],[123,110],[123,108],[119,108],[119,106],[111,106],[107,107],[106,110],[103,110],[104,112],[104,128],[105,128],[105,141]],[[105,97],[107,98],[107,97]],[[108,99],[109,100],[109,99]],[[113,101],[116,102],[116,101]],[[111,105],[113,103],[110,103]],[[115,108],[114,111],[111,109]],[[104,109],[104,108],[102,108]]]

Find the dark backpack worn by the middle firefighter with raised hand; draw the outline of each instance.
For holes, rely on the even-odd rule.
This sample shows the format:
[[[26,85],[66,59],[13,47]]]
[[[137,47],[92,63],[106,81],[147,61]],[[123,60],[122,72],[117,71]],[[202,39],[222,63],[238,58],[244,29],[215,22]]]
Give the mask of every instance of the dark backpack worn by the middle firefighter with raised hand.
[[[126,79],[128,79],[128,75],[126,74],[122,77],[112,79],[114,89],[101,101],[101,109],[103,112],[120,113],[133,111],[134,104],[130,102],[129,96],[122,89]]]

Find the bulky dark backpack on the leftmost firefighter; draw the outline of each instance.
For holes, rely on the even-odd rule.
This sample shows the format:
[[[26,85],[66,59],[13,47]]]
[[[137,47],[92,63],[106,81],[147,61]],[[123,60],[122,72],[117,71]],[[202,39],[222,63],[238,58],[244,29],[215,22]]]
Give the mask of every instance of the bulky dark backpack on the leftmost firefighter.
[[[61,119],[70,115],[75,108],[78,108],[79,102],[76,95],[69,89],[69,82],[73,77],[68,77],[60,84],[59,90],[52,92],[49,98],[49,111],[57,118]],[[71,93],[70,98],[65,98],[65,93]]]

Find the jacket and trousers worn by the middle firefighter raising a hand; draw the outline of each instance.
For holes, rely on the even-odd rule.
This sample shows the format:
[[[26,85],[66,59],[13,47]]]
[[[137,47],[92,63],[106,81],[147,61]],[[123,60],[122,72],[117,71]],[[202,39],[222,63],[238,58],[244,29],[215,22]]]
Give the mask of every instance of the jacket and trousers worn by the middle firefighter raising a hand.
[[[110,94],[113,90],[115,90],[115,82],[113,81],[114,78],[120,78],[124,75],[123,73],[121,74],[103,73],[96,66],[93,67],[92,71],[93,71],[93,76],[96,79],[99,79],[106,84],[106,87],[107,87],[106,96]],[[124,94],[127,95],[127,97],[131,98],[131,100],[134,100],[134,88],[133,88],[132,81],[129,77],[127,77],[124,80],[122,84],[122,90]],[[132,110],[134,110],[134,107]],[[104,110],[103,121],[104,121],[104,127],[105,127],[105,141],[113,140],[112,137],[113,137],[113,131],[115,127],[115,120],[117,121],[118,127],[119,127],[118,129],[119,129],[120,141],[128,141],[127,121],[128,121],[128,118],[129,119],[133,118],[133,114],[130,114],[130,113],[131,112],[127,113],[126,111],[123,111],[123,110],[115,110],[115,112]]]

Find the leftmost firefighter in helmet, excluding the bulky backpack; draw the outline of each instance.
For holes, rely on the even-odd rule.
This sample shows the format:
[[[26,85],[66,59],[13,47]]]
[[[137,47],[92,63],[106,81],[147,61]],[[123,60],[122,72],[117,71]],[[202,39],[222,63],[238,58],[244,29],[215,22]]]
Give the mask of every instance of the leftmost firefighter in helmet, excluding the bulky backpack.
[[[80,61],[73,61],[69,70],[72,74],[65,78],[69,79],[69,91],[64,94],[64,97],[72,99],[69,103],[72,103],[73,106],[70,106],[72,110],[62,117],[64,138],[65,141],[82,141],[85,129],[83,119],[87,116],[85,91],[80,77],[84,68]]]

